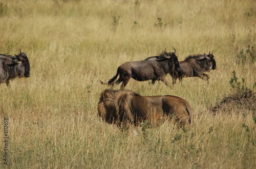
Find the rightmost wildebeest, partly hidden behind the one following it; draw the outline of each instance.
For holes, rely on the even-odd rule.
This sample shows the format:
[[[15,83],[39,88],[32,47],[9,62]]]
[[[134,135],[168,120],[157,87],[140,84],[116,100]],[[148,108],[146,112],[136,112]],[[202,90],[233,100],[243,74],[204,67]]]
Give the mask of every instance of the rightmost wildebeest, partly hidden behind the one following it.
[[[213,51],[208,55],[198,54],[188,56],[184,61],[179,62],[180,72],[174,71],[171,76],[173,77],[173,84],[176,83],[177,78],[182,81],[183,77],[200,77],[209,83],[209,75],[204,72],[216,69],[216,62]]]

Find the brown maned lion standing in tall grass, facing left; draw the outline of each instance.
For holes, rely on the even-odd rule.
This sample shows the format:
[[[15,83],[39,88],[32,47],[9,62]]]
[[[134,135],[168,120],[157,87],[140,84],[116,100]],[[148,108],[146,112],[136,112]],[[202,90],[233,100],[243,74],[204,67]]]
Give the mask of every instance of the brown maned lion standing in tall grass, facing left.
[[[181,126],[193,124],[192,108],[176,96],[141,96],[132,91],[106,89],[100,95],[97,109],[103,121],[119,127],[138,126],[145,120],[157,124],[170,116]]]

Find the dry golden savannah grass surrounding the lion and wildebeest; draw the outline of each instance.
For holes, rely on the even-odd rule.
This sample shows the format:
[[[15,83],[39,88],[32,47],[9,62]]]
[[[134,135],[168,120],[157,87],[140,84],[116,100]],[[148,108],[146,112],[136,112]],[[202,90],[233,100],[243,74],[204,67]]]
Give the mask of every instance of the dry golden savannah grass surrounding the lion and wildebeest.
[[[253,0],[2,0],[0,53],[25,52],[30,77],[0,85],[0,168],[256,168],[255,7]],[[102,122],[97,103],[110,87],[100,80],[172,47],[179,61],[214,51],[209,85],[189,77],[153,88],[131,79],[126,89],[185,99],[194,125],[143,123],[135,135]],[[234,100],[248,91],[251,102]]]

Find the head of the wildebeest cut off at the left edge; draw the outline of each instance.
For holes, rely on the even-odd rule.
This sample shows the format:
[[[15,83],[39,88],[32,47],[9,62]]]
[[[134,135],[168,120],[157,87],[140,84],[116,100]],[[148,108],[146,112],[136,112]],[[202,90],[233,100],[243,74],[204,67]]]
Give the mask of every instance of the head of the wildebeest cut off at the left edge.
[[[29,71],[30,71],[30,64],[29,59],[26,55],[26,53],[19,50],[20,53],[18,55],[15,55],[16,64],[18,64],[17,69],[19,70],[20,74],[19,77],[29,77]]]

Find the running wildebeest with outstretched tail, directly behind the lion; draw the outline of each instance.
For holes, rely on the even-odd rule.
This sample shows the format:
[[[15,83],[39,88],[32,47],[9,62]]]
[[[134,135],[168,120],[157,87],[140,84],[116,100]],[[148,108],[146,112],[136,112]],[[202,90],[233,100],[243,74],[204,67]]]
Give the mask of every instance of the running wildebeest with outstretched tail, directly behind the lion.
[[[152,80],[153,85],[156,80],[161,80],[168,86],[168,82],[165,80],[166,74],[171,74],[174,70],[180,71],[175,53],[175,49],[174,52],[166,52],[164,49],[164,52],[156,57],[150,57],[144,61],[126,62],[118,67],[116,75],[107,84],[114,86],[122,82],[121,88],[123,89],[132,77],[138,81]],[[118,75],[119,78],[115,81]],[[102,81],[101,83],[106,84]]]

